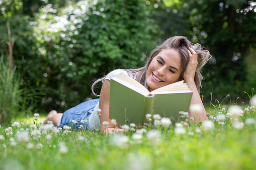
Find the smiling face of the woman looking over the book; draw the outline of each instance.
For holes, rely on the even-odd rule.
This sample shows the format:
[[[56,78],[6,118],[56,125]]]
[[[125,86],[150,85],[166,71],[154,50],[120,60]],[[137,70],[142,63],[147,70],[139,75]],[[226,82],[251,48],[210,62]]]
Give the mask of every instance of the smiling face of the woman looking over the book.
[[[147,69],[149,91],[178,81],[181,75],[181,56],[176,49],[166,49],[158,53]]]

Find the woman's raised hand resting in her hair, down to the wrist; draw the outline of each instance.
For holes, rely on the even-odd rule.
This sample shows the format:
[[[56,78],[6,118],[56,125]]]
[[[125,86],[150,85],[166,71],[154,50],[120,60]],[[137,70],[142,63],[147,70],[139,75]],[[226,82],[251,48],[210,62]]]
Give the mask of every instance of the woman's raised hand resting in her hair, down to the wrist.
[[[197,69],[197,53],[195,52],[194,49],[189,48],[189,64],[187,66],[187,68],[185,69],[183,78],[184,80],[193,80],[194,81],[194,77],[195,77],[195,72]]]

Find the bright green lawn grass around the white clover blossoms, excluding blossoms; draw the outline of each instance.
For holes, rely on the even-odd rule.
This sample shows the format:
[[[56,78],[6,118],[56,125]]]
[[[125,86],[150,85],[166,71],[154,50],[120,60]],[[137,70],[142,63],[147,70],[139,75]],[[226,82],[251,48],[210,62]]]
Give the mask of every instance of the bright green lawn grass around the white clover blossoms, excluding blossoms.
[[[227,108],[226,108],[227,109]],[[244,108],[243,108],[244,110]],[[217,113],[208,110],[211,115]],[[226,111],[225,111],[226,113]],[[40,117],[44,120],[45,117]],[[175,125],[169,128],[156,127],[160,137],[152,144],[154,139],[147,137],[151,128],[142,134],[140,140],[134,139],[136,132],[128,131],[118,136],[127,136],[129,140],[118,146],[113,140],[114,133],[102,134],[99,131],[72,131],[59,132],[47,139],[43,132],[40,138],[29,142],[19,142],[17,135],[6,135],[5,128],[0,128],[4,139],[0,140],[0,168],[3,169],[254,169],[256,167],[256,124],[246,124],[247,118],[255,120],[254,109],[244,112],[238,119],[244,126],[237,129],[234,121],[225,120],[225,124],[214,122],[214,128],[205,131],[203,125],[190,123],[184,127],[185,134],[175,134]],[[210,118],[209,118],[210,120]],[[23,117],[16,121],[29,122],[24,125],[31,131],[32,117]],[[39,126],[39,124],[37,124]],[[21,127],[13,127],[16,133]],[[201,132],[196,132],[201,129]],[[193,132],[193,133],[192,133]],[[82,137],[81,137],[82,136]],[[12,146],[10,138],[17,142]],[[121,142],[121,140],[119,141]],[[28,143],[34,145],[28,148]],[[42,148],[38,144],[42,144]],[[63,152],[63,145],[67,152]],[[64,146],[64,147],[65,147]],[[62,152],[61,152],[62,151]]]

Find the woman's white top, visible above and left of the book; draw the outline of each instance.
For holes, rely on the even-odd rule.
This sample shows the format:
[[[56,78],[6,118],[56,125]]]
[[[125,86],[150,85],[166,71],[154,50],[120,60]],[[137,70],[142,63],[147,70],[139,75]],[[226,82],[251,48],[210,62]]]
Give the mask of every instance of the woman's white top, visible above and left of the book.
[[[124,74],[130,76],[131,78],[136,79],[136,74],[132,74],[132,73],[128,74],[128,72],[125,71],[125,70],[117,69],[117,70],[114,70],[114,71],[110,72],[110,73],[105,77],[104,80],[106,80],[106,79],[111,80],[113,77],[117,76],[117,75],[120,74],[120,73],[124,73]],[[93,113],[91,114],[91,116],[90,116],[90,118],[89,118],[89,126],[90,126],[90,128],[91,128],[92,130],[98,128],[98,124],[99,124],[99,126],[100,126],[99,129],[101,128],[100,120],[99,120],[99,123],[98,123],[98,115],[97,115],[96,109],[99,109],[99,102],[98,102],[98,104],[95,106],[94,111],[93,111]]]

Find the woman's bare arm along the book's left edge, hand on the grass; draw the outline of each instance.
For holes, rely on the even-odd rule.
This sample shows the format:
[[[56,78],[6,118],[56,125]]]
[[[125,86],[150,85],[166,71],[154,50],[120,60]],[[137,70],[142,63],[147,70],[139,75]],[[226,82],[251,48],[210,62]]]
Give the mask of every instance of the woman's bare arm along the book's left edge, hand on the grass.
[[[110,98],[109,94],[110,94],[110,81],[105,80],[101,89],[100,103],[99,103],[99,108],[102,110],[100,115],[101,131],[104,131],[104,133],[108,133],[113,130],[117,132],[122,132],[122,129],[116,128],[116,127],[119,127],[119,125],[117,124],[115,127],[114,124],[112,124],[111,120],[109,119],[109,98]],[[109,122],[107,129],[103,125],[104,121]]]

